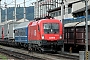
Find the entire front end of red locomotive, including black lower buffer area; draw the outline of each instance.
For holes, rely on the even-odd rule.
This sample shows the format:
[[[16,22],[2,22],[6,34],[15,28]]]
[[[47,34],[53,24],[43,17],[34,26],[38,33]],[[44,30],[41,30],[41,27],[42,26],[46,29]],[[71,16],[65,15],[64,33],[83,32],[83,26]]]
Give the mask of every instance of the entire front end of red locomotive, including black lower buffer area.
[[[44,47],[58,49],[63,46],[62,24],[58,20],[47,20],[41,24],[41,44]]]

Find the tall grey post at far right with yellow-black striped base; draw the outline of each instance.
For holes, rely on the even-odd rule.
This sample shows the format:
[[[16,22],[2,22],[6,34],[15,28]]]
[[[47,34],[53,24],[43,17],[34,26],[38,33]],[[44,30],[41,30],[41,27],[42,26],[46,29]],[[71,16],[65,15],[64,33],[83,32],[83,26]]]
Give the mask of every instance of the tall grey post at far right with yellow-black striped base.
[[[85,2],[85,13],[86,13],[86,19],[85,19],[85,44],[86,44],[86,55],[85,60],[88,60],[88,0],[81,0],[82,2]]]

